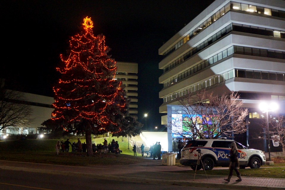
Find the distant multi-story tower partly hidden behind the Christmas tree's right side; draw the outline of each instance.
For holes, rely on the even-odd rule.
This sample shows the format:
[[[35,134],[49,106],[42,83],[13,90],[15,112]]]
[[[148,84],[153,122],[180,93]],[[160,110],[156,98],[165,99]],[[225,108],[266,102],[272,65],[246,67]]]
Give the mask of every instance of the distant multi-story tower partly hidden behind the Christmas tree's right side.
[[[129,114],[137,117],[137,63],[117,62],[116,79],[123,82],[127,98],[130,99]]]

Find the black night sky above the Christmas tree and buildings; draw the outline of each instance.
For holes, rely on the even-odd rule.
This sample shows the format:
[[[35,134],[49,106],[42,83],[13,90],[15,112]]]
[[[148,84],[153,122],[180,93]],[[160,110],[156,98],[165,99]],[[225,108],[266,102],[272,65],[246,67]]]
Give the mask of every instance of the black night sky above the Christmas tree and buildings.
[[[138,117],[147,127],[161,127],[158,49],[213,0],[9,0],[0,2],[1,77],[17,81],[22,91],[53,96],[59,55],[71,36],[91,17],[94,34],[103,34],[115,61],[138,63]]]

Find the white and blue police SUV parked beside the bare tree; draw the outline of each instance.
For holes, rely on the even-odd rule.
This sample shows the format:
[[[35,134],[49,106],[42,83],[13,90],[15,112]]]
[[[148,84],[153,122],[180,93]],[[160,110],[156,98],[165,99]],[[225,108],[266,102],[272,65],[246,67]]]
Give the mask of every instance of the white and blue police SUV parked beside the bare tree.
[[[190,140],[181,151],[180,164],[190,166],[192,170],[212,170],[214,166],[229,166],[230,144],[234,140],[221,139],[199,139]],[[248,149],[238,142],[238,160],[240,168],[259,168],[266,163],[265,155],[260,150]],[[203,163],[203,165],[202,165]]]

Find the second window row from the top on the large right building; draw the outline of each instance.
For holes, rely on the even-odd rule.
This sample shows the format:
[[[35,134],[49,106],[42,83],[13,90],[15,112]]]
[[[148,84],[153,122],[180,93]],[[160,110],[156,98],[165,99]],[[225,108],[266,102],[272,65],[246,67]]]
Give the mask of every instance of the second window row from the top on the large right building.
[[[196,54],[198,51],[202,50],[203,48],[206,48],[207,46],[217,41],[218,39],[224,37],[226,34],[228,34],[231,31],[241,31],[241,32],[246,32],[246,33],[251,33],[251,34],[259,34],[259,35],[265,35],[265,36],[285,38],[285,31],[268,29],[268,28],[257,27],[257,26],[249,26],[245,24],[232,23],[226,26],[225,28],[221,29],[216,34],[206,39],[204,42],[200,43],[193,49],[191,49],[189,52],[179,57],[175,61],[172,61],[170,64],[164,67],[163,72],[167,72],[168,70],[172,69],[176,65],[183,63],[184,61],[186,61],[186,59],[190,58],[191,56]]]

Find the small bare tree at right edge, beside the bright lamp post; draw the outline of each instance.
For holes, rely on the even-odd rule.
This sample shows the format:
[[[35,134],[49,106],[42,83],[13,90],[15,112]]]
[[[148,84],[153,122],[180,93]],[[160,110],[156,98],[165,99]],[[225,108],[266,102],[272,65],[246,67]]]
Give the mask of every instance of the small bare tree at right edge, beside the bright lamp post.
[[[275,143],[278,143],[278,146],[282,146],[282,152],[283,156],[285,156],[285,118],[283,115],[278,115],[276,117],[270,117],[268,118],[269,123],[269,136]],[[267,129],[266,120],[261,124],[262,127]],[[262,134],[268,134],[268,131],[265,132],[262,131]],[[264,135],[264,137],[261,137],[261,139],[267,139],[267,135]]]

